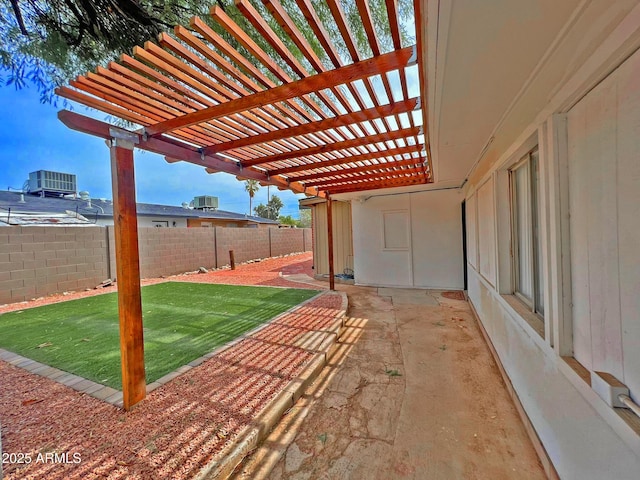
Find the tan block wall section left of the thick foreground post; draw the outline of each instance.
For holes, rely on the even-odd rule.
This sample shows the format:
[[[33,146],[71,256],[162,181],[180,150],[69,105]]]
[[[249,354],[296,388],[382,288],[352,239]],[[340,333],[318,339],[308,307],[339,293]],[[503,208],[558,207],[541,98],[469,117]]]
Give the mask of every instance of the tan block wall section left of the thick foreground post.
[[[101,227],[0,230],[0,304],[93,288],[109,277]]]

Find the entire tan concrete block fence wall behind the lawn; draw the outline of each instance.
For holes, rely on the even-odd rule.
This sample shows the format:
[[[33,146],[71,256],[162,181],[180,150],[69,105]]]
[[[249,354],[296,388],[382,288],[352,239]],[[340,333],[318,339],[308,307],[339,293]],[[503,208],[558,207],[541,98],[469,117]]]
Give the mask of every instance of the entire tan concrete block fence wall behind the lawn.
[[[142,278],[312,249],[311,229],[140,228]],[[113,227],[0,230],[0,304],[93,288],[115,277]]]

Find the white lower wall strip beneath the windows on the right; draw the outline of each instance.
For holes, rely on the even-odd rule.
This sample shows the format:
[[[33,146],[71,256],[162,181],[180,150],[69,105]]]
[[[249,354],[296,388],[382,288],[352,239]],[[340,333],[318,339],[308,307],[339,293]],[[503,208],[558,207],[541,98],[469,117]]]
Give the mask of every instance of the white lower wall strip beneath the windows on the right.
[[[468,292],[560,478],[637,479],[637,435],[629,426],[473,268]]]

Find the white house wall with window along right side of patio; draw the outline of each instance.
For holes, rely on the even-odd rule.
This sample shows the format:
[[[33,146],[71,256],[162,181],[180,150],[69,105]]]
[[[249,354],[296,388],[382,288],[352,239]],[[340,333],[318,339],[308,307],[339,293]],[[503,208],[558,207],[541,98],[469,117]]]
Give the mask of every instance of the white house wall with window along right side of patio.
[[[535,121],[496,131],[496,144],[504,135],[512,143],[466,190],[470,301],[567,479],[640,472],[640,419],[610,407],[591,382],[594,371],[610,373],[640,403],[640,53],[629,57],[640,46],[640,7],[619,20]],[[582,37],[594,44],[589,32]],[[544,73],[536,82],[548,82]],[[536,147],[538,183],[526,187],[534,198],[522,208],[514,185],[526,182],[514,176]],[[526,214],[531,205],[537,213]],[[536,233],[521,241],[527,231]],[[529,268],[535,275],[522,280]]]

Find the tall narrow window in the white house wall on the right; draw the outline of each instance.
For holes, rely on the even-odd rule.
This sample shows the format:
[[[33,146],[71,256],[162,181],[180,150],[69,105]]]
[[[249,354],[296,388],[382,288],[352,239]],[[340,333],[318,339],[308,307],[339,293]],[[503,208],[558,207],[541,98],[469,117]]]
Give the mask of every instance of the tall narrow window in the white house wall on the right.
[[[538,149],[511,170],[511,217],[514,294],[532,312],[544,315]]]

